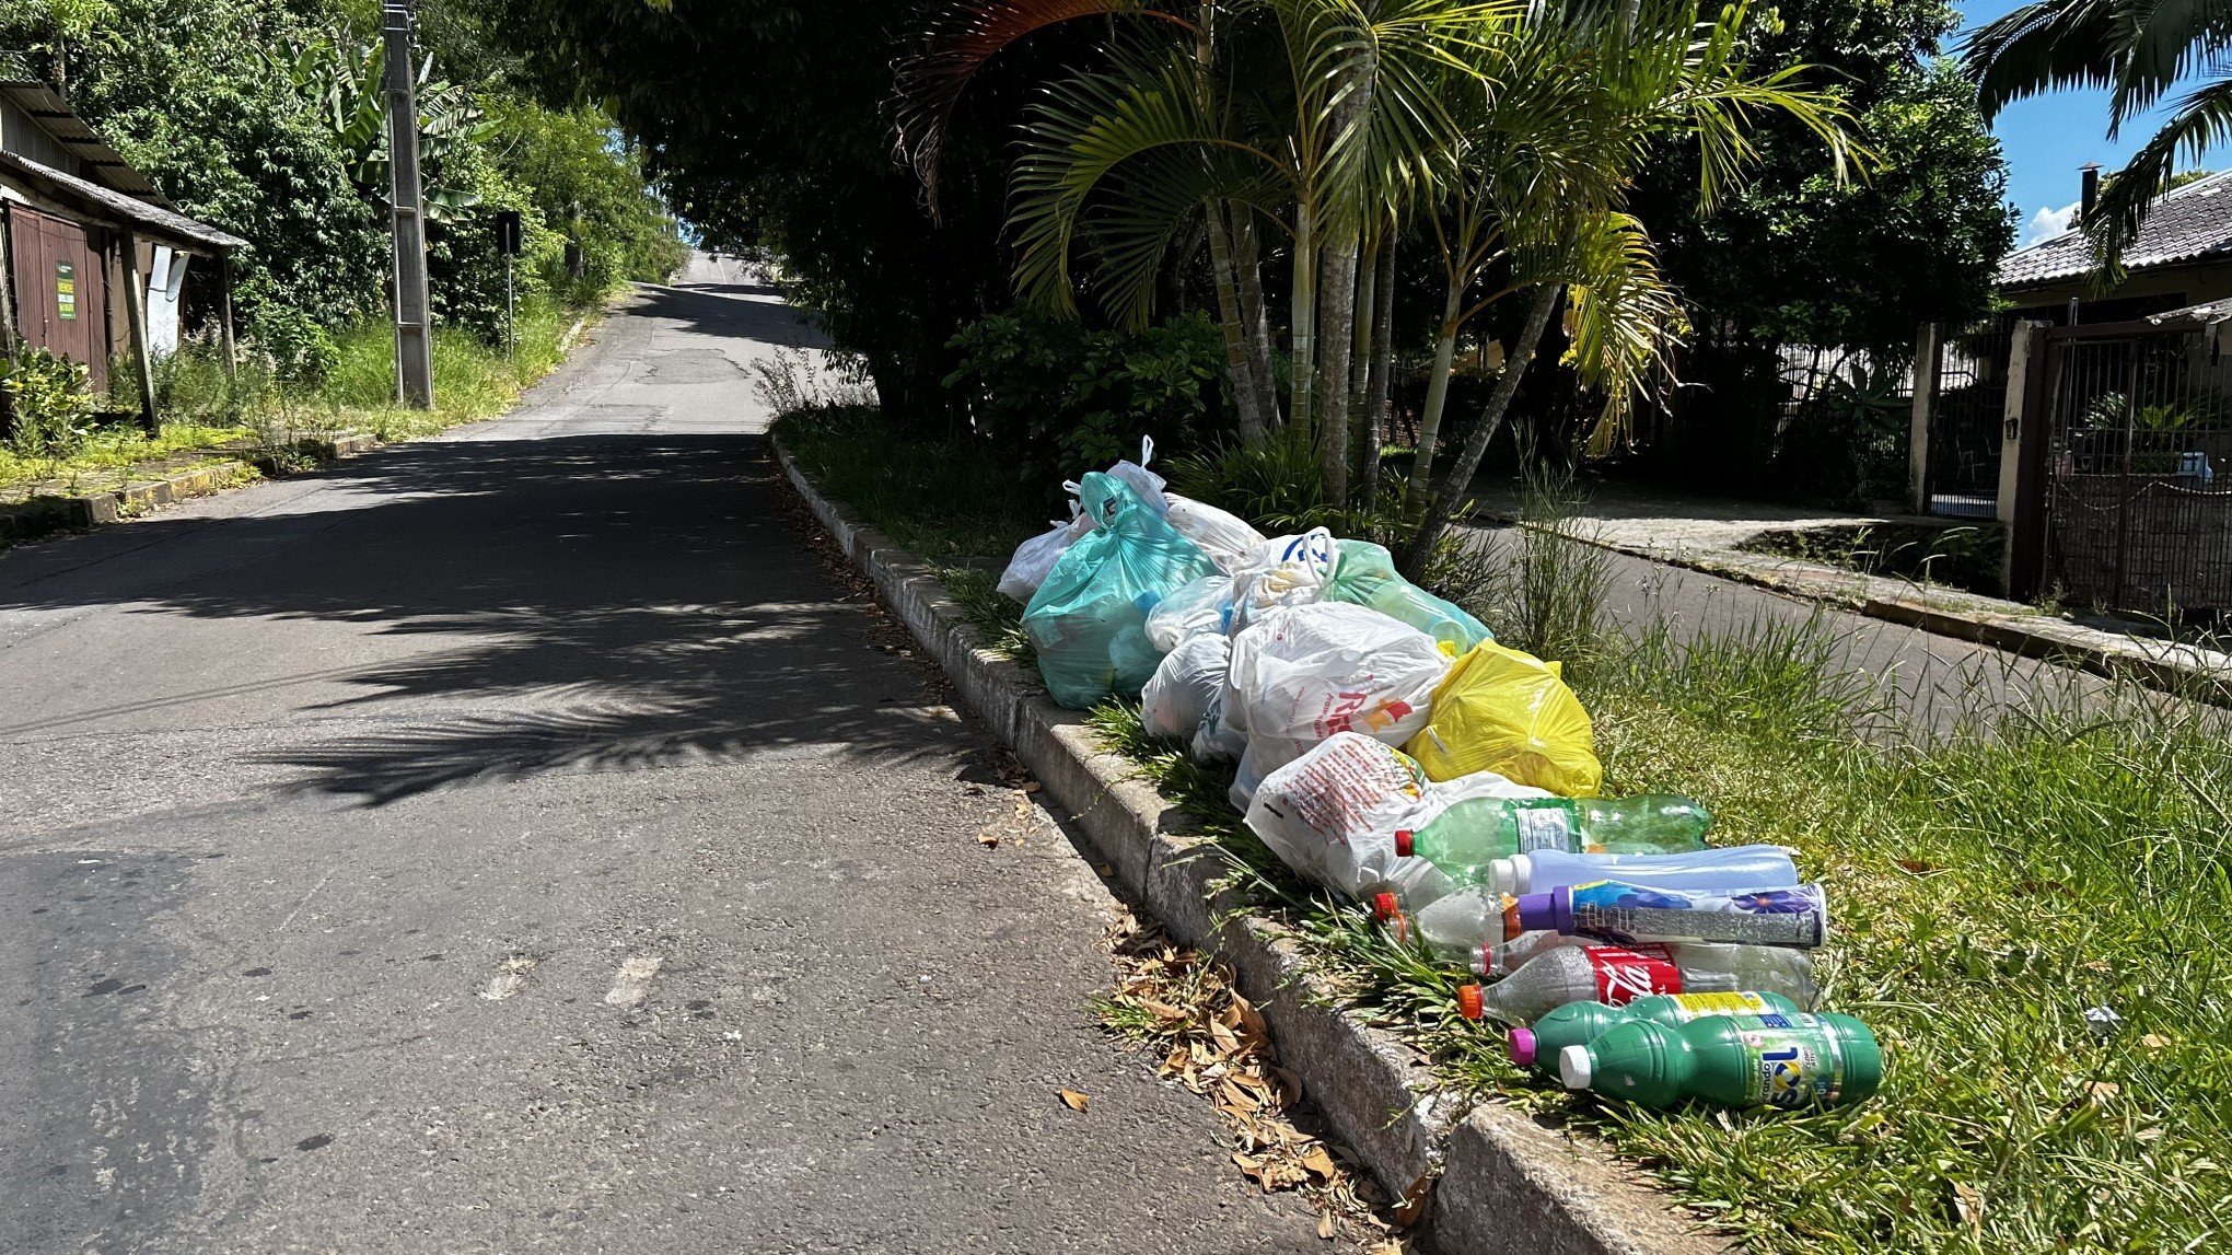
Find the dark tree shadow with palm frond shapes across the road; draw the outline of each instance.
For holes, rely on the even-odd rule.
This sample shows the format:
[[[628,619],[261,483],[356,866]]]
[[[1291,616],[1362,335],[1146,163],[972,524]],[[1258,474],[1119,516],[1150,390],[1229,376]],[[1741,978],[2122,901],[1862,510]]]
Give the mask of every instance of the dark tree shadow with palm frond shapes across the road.
[[[257,759],[366,804],[545,773],[951,753],[931,672],[817,565],[777,476],[748,435],[451,440],[328,471],[341,491],[297,511],[136,523],[109,561],[7,572],[0,610],[239,621],[243,652],[261,619],[353,628],[310,659],[281,636],[295,652],[270,659],[272,686],[194,690],[154,668],[132,701],[0,737],[176,706],[223,721],[277,688],[299,739]]]

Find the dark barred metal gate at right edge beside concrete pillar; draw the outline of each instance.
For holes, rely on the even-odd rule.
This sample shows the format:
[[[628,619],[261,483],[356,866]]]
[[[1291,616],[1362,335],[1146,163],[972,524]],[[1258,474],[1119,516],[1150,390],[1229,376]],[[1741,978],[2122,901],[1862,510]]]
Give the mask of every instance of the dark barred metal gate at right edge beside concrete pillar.
[[[2045,333],[2049,583],[2080,605],[2232,610],[2232,362],[2212,326]]]

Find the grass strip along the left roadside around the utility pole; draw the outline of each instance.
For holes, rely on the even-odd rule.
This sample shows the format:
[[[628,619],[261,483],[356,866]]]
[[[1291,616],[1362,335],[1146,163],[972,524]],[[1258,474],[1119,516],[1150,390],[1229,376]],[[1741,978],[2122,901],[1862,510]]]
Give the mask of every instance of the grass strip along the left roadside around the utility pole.
[[[116,487],[129,478],[132,467],[239,440],[270,449],[301,435],[344,431],[411,440],[496,418],[558,366],[558,342],[580,313],[547,301],[520,306],[516,362],[502,346],[482,344],[469,330],[437,328],[431,411],[395,404],[395,333],[384,324],[337,333],[337,364],[317,384],[281,384],[252,362],[241,368],[239,382],[228,384],[214,351],[190,344],[163,362],[156,377],[165,418],[161,435],[147,435],[138,427],[105,427],[69,458],[20,458],[0,444],[0,494],[47,480],[65,491]]]

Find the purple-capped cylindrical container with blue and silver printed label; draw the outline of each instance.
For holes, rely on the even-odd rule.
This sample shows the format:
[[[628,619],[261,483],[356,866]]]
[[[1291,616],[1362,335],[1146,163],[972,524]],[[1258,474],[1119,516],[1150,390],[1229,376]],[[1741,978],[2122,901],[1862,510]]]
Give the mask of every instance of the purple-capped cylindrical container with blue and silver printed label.
[[[1634,945],[1725,940],[1817,947],[1828,940],[1828,893],[1819,884],[1723,893],[1674,893],[1598,880],[1507,898],[1504,936],[1551,929]]]

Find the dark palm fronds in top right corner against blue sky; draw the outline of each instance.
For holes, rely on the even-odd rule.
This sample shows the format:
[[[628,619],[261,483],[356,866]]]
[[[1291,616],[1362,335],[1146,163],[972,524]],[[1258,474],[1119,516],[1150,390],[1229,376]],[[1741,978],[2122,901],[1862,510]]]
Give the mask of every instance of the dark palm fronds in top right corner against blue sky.
[[[1991,121],[2000,107],[2056,87],[2107,87],[2107,138],[2163,103],[2194,69],[2210,80],[2185,94],[2170,121],[2107,181],[2087,217],[2100,281],[2123,275],[2123,252],[2138,237],[2147,205],[2167,192],[2181,163],[2232,138],[2232,4],[2199,0],[2033,0],[1969,36],[1962,58],[1978,83],[1978,105]]]

